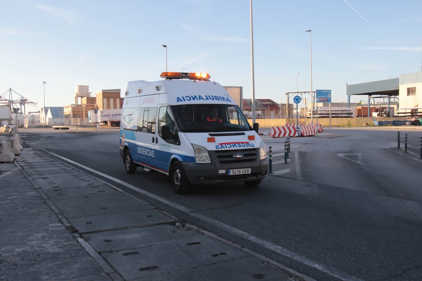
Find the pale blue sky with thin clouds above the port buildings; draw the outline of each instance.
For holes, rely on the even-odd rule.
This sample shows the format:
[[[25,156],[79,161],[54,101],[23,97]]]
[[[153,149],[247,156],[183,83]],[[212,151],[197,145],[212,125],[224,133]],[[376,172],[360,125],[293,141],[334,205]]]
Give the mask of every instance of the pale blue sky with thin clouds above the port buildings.
[[[0,0],[0,94],[43,106],[74,101],[75,85],[121,88],[168,70],[208,72],[251,98],[249,1]],[[353,8],[352,8],[353,7]],[[255,97],[285,103],[314,89],[346,101],[345,84],[420,71],[422,2],[253,1]],[[352,98],[355,102],[356,98]]]

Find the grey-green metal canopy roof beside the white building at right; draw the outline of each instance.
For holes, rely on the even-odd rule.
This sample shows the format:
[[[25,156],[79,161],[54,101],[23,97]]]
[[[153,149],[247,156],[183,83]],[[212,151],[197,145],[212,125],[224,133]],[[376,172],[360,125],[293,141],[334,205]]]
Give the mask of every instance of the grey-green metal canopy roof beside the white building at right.
[[[365,96],[398,96],[399,78],[346,85],[346,94]]]

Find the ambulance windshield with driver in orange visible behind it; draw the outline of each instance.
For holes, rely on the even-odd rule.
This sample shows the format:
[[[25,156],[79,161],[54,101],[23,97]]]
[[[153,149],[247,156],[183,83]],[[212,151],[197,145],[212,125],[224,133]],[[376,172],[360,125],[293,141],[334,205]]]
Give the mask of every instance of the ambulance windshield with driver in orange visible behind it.
[[[252,130],[237,105],[186,104],[175,105],[173,110],[181,130],[185,133]]]

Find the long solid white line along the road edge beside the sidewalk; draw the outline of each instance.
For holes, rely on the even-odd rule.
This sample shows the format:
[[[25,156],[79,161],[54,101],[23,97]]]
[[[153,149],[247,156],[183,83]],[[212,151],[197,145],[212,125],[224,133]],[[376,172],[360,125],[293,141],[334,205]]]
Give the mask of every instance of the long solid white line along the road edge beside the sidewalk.
[[[339,270],[336,270],[335,268],[327,267],[327,266],[321,265],[321,264],[319,264],[317,262],[308,260],[306,257],[302,257],[299,254],[296,254],[296,253],[294,253],[294,252],[292,252],[292,251],[290,251],[290,250],[288,250],[286,248],[283,248],[283,247],[281,247],[279,245],[273,244],[273,243],[271,243],[269,241],[263,240],[263,239],[261,239],[259,237],[256,237],[256,236],[253,236],[253,235],[251,235],[249,233],[246,233],[246,232],[244,232],[242,230],[239,230],[239,229],[237,229],[235,227],[231,227],[230,225],[226,225],[226,224],[224,224],[222,222],[219,222],[219,221],[217,221],[215,219],[211,219],[210,217],[206,217],[203,214],[195,213],[195,211],[193,211],[191,209],[188,209],[188,208],[186,208],[184,206],[181,206],[181,205],[179,205],[177,203],[174,203],[172,201],[168,201],[167,199],[162,198],[162,197],[160,197],[158,195],[149,193],[146,190],[143,190],[141,188],[135,187],[134,185],[131,185],[131,184],[127,183],[127,182],[124,182],[124,181],[122,181],[120,179],[116,179],[116,178],[111,177],[111,176],[109,176],[107,174],[103,174],[100,171],[96,171],[94,169],[91,169],[91,168],[89,168],[87,166],[84,166],[82,164],[79,164],[79,163],[77,163],[75,161],[72,161],[72,160],[70,160],[68,158],[62,157],[62,156],[57,155],[55,153],[51,153],[50,152],[50,154],[56,156],[57,158],[61,158],[61,159],[65,160],[65,161],[67,161],[69,163],[72,163],[72,164],[74,164],[76,166],[79,166],[79,167],[81,167],[83,169],[86,169],[86,170],[91,171],[91,172],[93,172],[95,174],[98,174],[98,175],[100,175],[102,177],[105,177],[105,178],[110,179],[110,180],[112,180],[114,182],[117,182],[117,183],[119,183],[121,185],[124,185],[125,187],[128,187],[131,190],[135,190],[136,192],[141,193],[143,195],[146,195],[146,196],[148,196],[150,198],[153,198],[153,199],[155,199],[157,201],[160,201],[161,203],[164,203],[164,204],[166,204],[168,206],[171,206],[171,207],[173,207],[175,209],[178,209],[178,210],[183,211],[183,212],[185,212],[187,214],[190,214],[193,217],[197,217],[198,219],[202,219],[203,221],[206,221],[206,222],[208,222],[208,223],[210,223],[212,225],[215,225],[217,227],[220,227],[220,228],[222,228],[222,229],[224,229],[224,230],[226,230],[228,232],[234,233],[234,234],[236,234],[239,237],[242,237],[244,239],[247,239],[249,241],[252,241],[253,243],[259,244],[259,245],[261,245],[261,246],[263,246],[263,247],[265,247],[267,249],[270,249],[273,252],[279,253],[279,254],[281,254],[281,255],[283,255],[285,257],[289,257],[289,258],[291,258],[293,260],[296,260],[298,262],[301,262],[301,263],[303,263],[305,265],[308,265],[308,266],[311,266],[313,268],[317,268],[318,270],[320,270],[320,271],[322,271],[324,273],[327,273],[328,275],[334,276],[335,278],[339,278],[341,280],[361,281],[361,279],[356,278],[354,276],[350,276],[350,275],[341,273]]]

